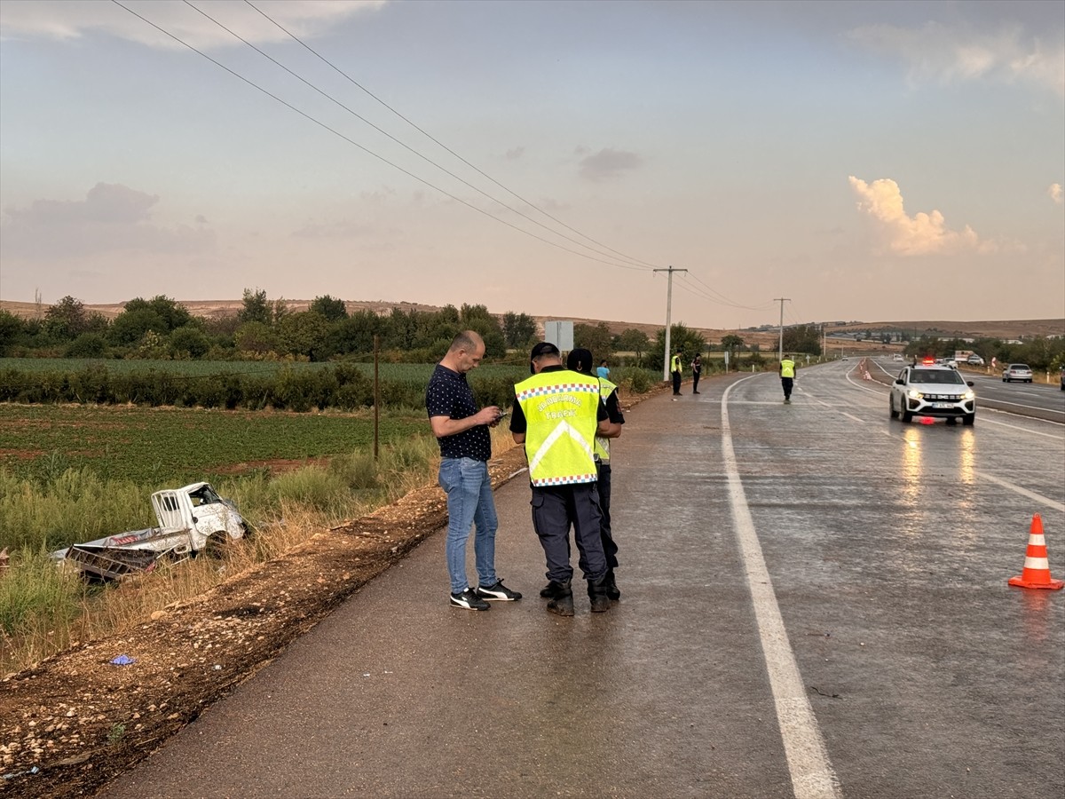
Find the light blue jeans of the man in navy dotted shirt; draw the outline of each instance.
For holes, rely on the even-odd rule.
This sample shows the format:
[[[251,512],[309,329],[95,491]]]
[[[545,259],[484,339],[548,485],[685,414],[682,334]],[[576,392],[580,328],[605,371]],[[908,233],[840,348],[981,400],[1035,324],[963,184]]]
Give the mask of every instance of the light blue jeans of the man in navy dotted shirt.
[[[473,458],[444,458],[440,461],[440,487],[447,494],[447,571],[452,593],[461,593],[470,584],[465,575],[465,544],[470,527],[476,525],[473,550],[478,585],[495,585],[495,516],[492,480],[488,463]]]

